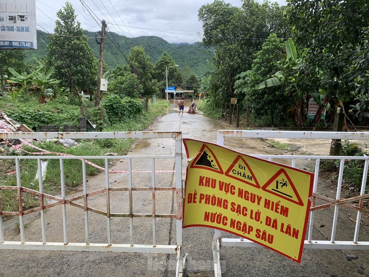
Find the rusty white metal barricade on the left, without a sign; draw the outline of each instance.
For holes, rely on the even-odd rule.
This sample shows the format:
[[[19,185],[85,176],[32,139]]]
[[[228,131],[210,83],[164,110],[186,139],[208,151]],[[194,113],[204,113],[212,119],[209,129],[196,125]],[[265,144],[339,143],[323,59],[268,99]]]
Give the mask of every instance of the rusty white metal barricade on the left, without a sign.
[[[162,254],[176,254],[176,276],[183,276],[184,266],[186,263],[186,255],[183,252],[182,246],[182,190],[184,182],[182,182],[182,132],[90,132],[90,133],[0,133],[0,138],[9,140],[11,138],[18,138],[21,140],[26,139],[52,139],[52,138],[71,138],[71,139],[89,139],[89,138],[171,138],[175,141],[175,154],[172,155],[147,155],[147,156],[114,156],[114,159],[125,159],[128,161],[128,187],[111,187],[109,184],[109,165],[108,159],[112,157],[99,156],[99,157],[77,157],[77,156],[1,156],[3,160],[14,160],[16,167],[16,179],[17,186],[0,186],[0,192],[4,190],[15,190],[18,194],[18,211],[2,211],[1,210],[1,198],[0,198],[0,249],[15,249],[15,250],[58,250],[58,251],[92,251],[92,252],[128,252],[128,253],[162,253]],[[47,153],[46,153],[47,154]],[[20,160],[23,159],[37,159],[38,161],[38,183],[39,191],[35,191],[29,188],[22,187],[20,178]],[[42,181],[42,163],[41,160],[59,159],[60,171],[61,171],[61,197],[55,197],[45,194],[43,192]],[[64,162],[66,159],[80,159],[82,160],[82,174],[83,174],[83,193],[68,198],[65,194],[65,172]],[[86,163],[89,159],[104,159],[105,161],[105,185],[103,188],[87,192],[86,185]],[[141,185],[134,186],[132,184],[132,160],[134,159],[147,159],[148,163],[151,163],[151,185],[146,187]],[[155,160],[158,159],[173,159],[175,164],[175,170],[170,171],[175,174],[175,187],[156,187],[155,184]],[[113,213],[110,211],[111,199],[110,194],[112,191],[128,191],[129,194],[129,213]],[[152,192],[152,213],[134,213],[132,209],[132,191],[151,191]],[[174,212],[159,214],[155,212],[155,192],[156,191],[172,191],[174,192]],[[22,194],[29,193],[39,198],[40,206],[24,211],[22,207]],[[106,197],[106,211],[93,208],[88,205],[88,197],[93,195],[103,194]],[[82,201],[83,202],[78,202]],[[53,206],[61,205],[62,207],[62,222],[63,222],[63,242],[53,242],[46,238],[45,231],[45,209]],[[84,210],[84,222],[85,222],[85,243],[72,243],[67,238],[67,213],[66,205],[72,205]],[[25,227],[24,216],[33,212],[41,213],[41,232],[42,241],[40,242],[28,242],[25,239]],[[90,243],[89,233],[89,213],[98,213],[106,216],[106,243]],[[20,228],[20,241],[4,241],[4,230],[2,216],[19,216],[19,228]],[[130,228],[130,243],[129,244],[117,244],[112,243],[111,239],[111,226],[110,219],[114,217],[126,217],[129,218]],[[152,218],[152,244],[138,244],[134,242],[133,232],[133,218]],[[156,219],[157,218],[175,218],[176,219],[176,245],[160,245],[156,244]],[[149,223],[150,225],[150,223]],[[168,239],[170,241],[170,239]]]

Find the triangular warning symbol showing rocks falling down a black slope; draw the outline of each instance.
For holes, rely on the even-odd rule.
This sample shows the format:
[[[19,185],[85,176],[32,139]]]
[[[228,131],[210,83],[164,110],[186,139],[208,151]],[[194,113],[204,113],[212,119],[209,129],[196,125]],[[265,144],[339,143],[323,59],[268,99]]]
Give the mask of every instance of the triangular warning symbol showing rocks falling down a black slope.
[[[215,157],[213,151],[210,150],[205,144],[200,149],[199,154],[194,158],[190,168],[202,168],[214,172],[223,174],[224,171],[221,168],[217,157]]]

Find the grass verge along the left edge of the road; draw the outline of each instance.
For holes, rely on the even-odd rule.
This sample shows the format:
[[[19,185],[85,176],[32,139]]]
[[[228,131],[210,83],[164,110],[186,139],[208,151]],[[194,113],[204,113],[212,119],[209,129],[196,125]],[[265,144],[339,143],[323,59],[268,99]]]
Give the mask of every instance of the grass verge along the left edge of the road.
[[[33,104],[30,104],[30,107]],[[40,105],[43,106],[43,105]],[[144,130],[157,116],[168,112],[170,105],[167,101],[158,101],[155,104],[149,103],[148,112],[134,115],[132,118],[124,119],[124,122],[113,124],[110,126],[104,126],[103,131],[141,131]],[[55,109],[55,107],[53,107]],[[71,107],[70,110],[75,109]],[[79,107],[78,107],[79,109]],[[68,114],[71,114],[69,111]],[[21,123],[21,122],[20,122]],[[68,123],[67,123],[68,124]],[[105,153],[117,153],[118,155],[127,154],[131,149],[131,145],[134,139],[94,139],[94,140],[81,140],[77,146],[66,148],[61,144],[55,144],[53,141],[40,141],[34,142],[37,147],[42,149],[57,152],[71,154],[75,156],[86,157],[87,160],[104,167],[104,160],[102,159],[89,159],[89,156],[99,156]],[[35,149],[30,146],[24,146],[24,150],[34,152]],[[38,152],[38,150],[36,150]],[[14,155],[14,154],[11,154]],[[15,154],[16,155],[16,154]],[[30,155],[22,152],[21,155]],[[12,170],[15,170],[14,160],[7,160],[7,164]],[[65,159],[64,165],[64,178],[65,185],[73,188],[82,183],[82,161],[77,159]],[[35,175],[38,170],[37,159],[20,159],[20,172],[21,172],[21,185],[22,187],[39,190],[38,180],[35,180]],[[86,164],[86,174],[96,175],[101,170],[92,165]],[[0,184],[5,186],[16,186],[17,180],[15,174],[0,175]],[[44,192],[50,192],[60,189],[60,166],[59,159],[49,159],[45,181],[43,182]],[[1,209],[3,211],[17,211],[17,191],[15,190],[0,190]],[[34,199],[33,194],[23,193],[23,209],[39,206],[39,200]]]

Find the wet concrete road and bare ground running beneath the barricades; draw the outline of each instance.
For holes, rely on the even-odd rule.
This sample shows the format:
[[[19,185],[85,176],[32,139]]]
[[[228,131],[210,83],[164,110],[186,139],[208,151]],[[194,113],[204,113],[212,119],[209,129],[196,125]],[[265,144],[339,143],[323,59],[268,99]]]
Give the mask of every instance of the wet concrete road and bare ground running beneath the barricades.
[[[178,116],[177,108],[172,105],[168,114],[158,118],[147,131],[182,131],[183,138],[216,143],[217,130],[228,129],[228,124],[208,119],[197,114]],[[296,144],[297,141],[291,143]],[[300,142],[299,142],[300,143]],[[323,143],[324,144],[324,143]],[[328,141],[329,144],[329,141]],[[319,144],[320,145],[320,144]],[[278,150],[270,147],[265,141],[257,139],[228,138],[225,146],[245,154],[295,154],[298,151],[324,154],[325,145],[312,143],[306,149],[294,152]],[[297,147],[298,148],[298,147]],[[296,148],[295,148],[296,149]],[[167,155],[175,153],[172,139],[138,140],[129,155]],[[329,147],[328,147],[329,151]],[[183,170],[186,167],[186,155],[183,153]],[[328,154],[328,153],[327,153]],[[290,164],[290,161],[280,161]],[[297,167],[309,170],[314,162],[304,161]],[[126,160],[118,160],[111,164],[113,170],[127,170]],[[155,170],[173,170],[173,160],[155,162]],[[132,161],[132,170],[150,170],[147,160]],[[139,186],[151,186],[151,173],[132,174],[133,183]],[[185,178],[183,173],[182,178]],[[128,176],[124,173],[109,174],[111,186],[124,186]],[[157,186],[175,186],[173,172],[160,172],[155,175]],[[90,177],[87,191],[95,191],[105,187],[105,174]],[[335,198],[337,181],[321,176],[318,192]],[[82,187],[77,187],[68,196],[79,195]],[[348,197],[349,193],[342,193]],[[155,208],[157,213],[173,211],[172,192],[157,192]],[[134,212],[152,211],[151,192],[134,192]],[[93,208],[106,207],[106,199],[102,195],[94,195],[89,199]],[[128,212],[128,192],[111,194],[111,211]],[[323,202],[321,202],[323,204]],[[320,204],[318,202],[317,204]],[[368,205],[368,204],[366,204]],[[368,208],[368,207],[367,207]],[[329,240],[331,236],[334,208],[325,208],[315,212],[314,240]],[[85,242],[85,217],[82,209],[67,206],[68,241]],[[336,240],[352,241],[354,237],[356,213],[354,210],[340,207]],[[60,206],[51,208],[45,213],[47,241],[63,242],[62,212]],[[369,218],[362,216],[359,240],[369,240]],[[27,216],[26,241],[41,241],[40,215]],[[19,241],[17,219],[3,222],[4,238],[7,241]],[[106,242],[106,218],[89,213],[90,243]],[[111,219],[113,243],[129,243],[129,221],[127,218]],[[175,244],[175,220],[159,218],[156,220],[156,243]],[[183,247],[188,253],[185,275],[189,277],[214,276],[211,243],[214,229],[193,227],[183,229]],[[223,237],[235,237],[222,232]],[[152,219],[134,218],[134,243],[152,243]],[[174,276],[175,256],[166,254],[135,253],[99,253],[99,252],[62,252],[62,251],[17,251],[0,250],[0,277],[5,276]],[[273,252],[266,248],[221,248],[222,276],[369,276],[368,250],[313,250],[304,249],[301,263]]]

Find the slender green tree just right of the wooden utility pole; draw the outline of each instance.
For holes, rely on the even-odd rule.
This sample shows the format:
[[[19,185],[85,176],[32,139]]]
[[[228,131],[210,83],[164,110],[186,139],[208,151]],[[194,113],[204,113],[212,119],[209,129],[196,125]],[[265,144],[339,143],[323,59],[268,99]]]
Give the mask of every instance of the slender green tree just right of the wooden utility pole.
[[[146,99],[146,110],[151,96],[159,92],[158,81],[152,78],[154,66],[151,64],[149,57],[146,56],[145,50],[141,46],[131,48],[128,61],[131,63],[131,68],[134,66],[134,72],[138,70],[138,81],[142,85],[141,96]]]

